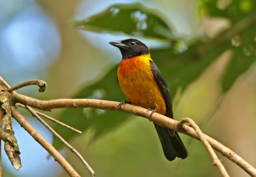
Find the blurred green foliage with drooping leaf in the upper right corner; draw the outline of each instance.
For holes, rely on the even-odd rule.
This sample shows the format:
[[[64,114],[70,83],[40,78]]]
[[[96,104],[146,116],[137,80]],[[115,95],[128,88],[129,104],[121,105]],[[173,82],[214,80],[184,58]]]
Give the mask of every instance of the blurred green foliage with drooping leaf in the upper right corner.
[[[216,38],[224,38],[231,41],[234,54],[230,60],[222,84],[223,90],[227,91],[236,78],[244,73],[255,62],[256,49],[256,1],[253,0],[203,0],[201,10],[206,11],[211,17],[227,18],[232,23],[232,27],[227,32],[223,32],[222,36]],[[215,48],[220,48],[216,46]]]

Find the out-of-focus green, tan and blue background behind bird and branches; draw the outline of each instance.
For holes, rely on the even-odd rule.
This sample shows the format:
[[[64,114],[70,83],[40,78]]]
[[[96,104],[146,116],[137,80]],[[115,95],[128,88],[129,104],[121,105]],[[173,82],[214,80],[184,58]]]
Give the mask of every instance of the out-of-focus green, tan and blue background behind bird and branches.
[[[206,134],[256,165],[254,0],[0,0],[0,74],[11,85],[47,81],[44,93],[26,87],[21,94],[124,101],[116,83],[121,55],[108,42],[125,38],[150,47],[170,88],[176,120],[193,118]],[[81,176],[90,176],[76,155],[22,113]],[[145,118],[95,109],[48,114],[83,131],[80,136],[49,122],[97,176],[220,176],[202,143],[183,134],[188,159],[168,162]],[[3,154],[3,176],[68,176],[17,122],[13,126],[23,167],[15,171]],[[218,156],[230,176],[248,176]]]

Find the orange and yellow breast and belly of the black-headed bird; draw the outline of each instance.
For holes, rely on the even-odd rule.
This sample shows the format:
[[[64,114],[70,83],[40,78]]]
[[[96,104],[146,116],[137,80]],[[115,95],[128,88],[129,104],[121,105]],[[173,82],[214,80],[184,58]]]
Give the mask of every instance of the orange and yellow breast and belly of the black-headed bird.
[[[123,59],[117,71],[118,83],[128,101],[143,108],[157,108],[165,115],[166,104],[150,67],[150,55]]]

